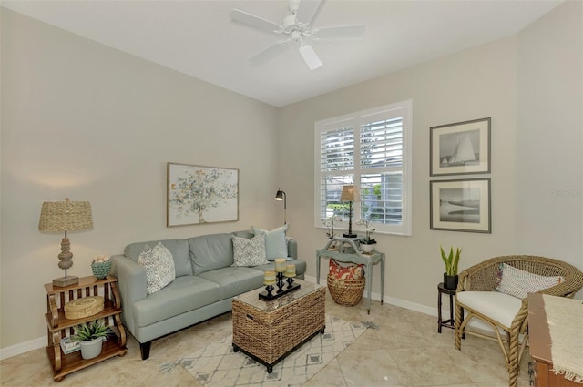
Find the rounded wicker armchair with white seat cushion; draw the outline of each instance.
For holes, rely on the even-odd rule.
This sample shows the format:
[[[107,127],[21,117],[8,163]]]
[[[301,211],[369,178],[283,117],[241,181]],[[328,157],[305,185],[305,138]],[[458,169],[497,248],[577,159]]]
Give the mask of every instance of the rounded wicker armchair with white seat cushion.
[[[527,297],[520,300],[508,296],[510,299],[515,300],[511,300],[514,309],[510,308],[511,315],[506,316],[506,319],[499,318],[500,310],[504,308],[502,305],[494,304],[494,308],[486,311],[487,307],[483,308],[484,310],[478,310],[476,304],[474,308],[471,308],[465,305],[463,301],[458,300],[460,294],[465,291],[492,292],[495,290],[500,263],[506,263],[517,269],[526,270],[542,276],[562,276],[565,279],[563,282],[551,288],[538,291],[538,293],[559,297],[572,298],[575,293],[583,287],[583,272],[561,260],[528,255],[511,255],[485,260],[460,273],[455,294],[455,348],[461,350],[462,336],[465,335],[465,326],[469,321],[473,318],[477,318],[487,322],[494,328],[496,339],[504,353],[509,372],[508,385],[510,387],[517,387],[520,358],[522,357],[528,341]],[[494,296],[492,293],[487,293],[485,295],[488,297]],[[496,295],[502,295],[502,293],[496,292]],[[506,295],[504,296],[506,297]],[[508,297],[506,297],[506,299]],[[461,298],[467,300],[467,294],[461,296]],[[492,310],[495,311],[492,312]],[[512,317],[514,311],[517,311],[517,313]],[[500,322],[500,320],[506,321],[506,323]],[[511,323],[508,323],[510,321]],[[506,331],[506,340],[502,338],[500,331],[498,331],[499,329]],[[521,335],[524,335],[522,343],[519,341]]]

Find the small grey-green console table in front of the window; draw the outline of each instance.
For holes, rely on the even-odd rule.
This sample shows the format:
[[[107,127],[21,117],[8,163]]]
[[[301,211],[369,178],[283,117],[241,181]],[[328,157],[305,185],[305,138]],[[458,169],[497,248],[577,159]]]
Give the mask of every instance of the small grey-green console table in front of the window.
[[[373,265],[381,263],[381,305],[383,305],[384,295],[384,252],[373,250],[370,253],[365,253],[358,249],[356,243],[358,239],[352,238],[332,238],[326,244],[326,247],[316,250],[316,282],[320,283],[320,262],[321,258],[333,258],[339,262],[351,262],[356,264],[363,264],[365,267],[364,278],[366,278],[366,294],[367,304],[366,309],[368,314],[371,314],[371,291],[373,289]],[[338,250],[331,250],[332,246],[339,244]]]

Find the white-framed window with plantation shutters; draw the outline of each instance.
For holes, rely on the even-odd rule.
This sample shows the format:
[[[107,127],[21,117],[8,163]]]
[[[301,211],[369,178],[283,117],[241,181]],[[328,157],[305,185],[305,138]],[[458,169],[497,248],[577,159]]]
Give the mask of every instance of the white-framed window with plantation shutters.
[[[353,232],[366,219],[377,232],[411,235],[411,110],[409,100],[316,122],[316,227],[331,216],[348,221],[340,194],[354,184]]]

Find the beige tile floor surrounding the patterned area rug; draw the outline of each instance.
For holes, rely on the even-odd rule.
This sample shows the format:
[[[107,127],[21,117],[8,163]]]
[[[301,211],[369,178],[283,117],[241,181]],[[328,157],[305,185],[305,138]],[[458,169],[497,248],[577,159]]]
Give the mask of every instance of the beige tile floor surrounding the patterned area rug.
[[[318,372],[304,387],[449,386],[506,387],[507,372],[496,341],[467,335],[462,351],[454,346],[454,331],[437,333],[434,316],[373,301],[366,314],[365,299],[343,307],[327,296],[326,313],[346,321],[373,321],[378,329],[362,337]],[[161,372],[212,341],[230,334],[230,313],[154,341],[147,361],[139,357],[138,342],[128,335],[128,354],[100,362],[53,382],[45,349],[29,351],[0,362],[0,385],[23,386],[199,386],[182,367]],[[518,386],[528,387],[528,362],[521,362]]]

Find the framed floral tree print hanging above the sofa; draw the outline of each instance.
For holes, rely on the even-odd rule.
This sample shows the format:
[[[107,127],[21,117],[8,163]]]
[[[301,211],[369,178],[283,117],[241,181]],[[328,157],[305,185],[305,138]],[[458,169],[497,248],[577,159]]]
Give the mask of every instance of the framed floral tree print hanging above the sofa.
[[[239,220],[239,169],[168,163],[167,226]]]

